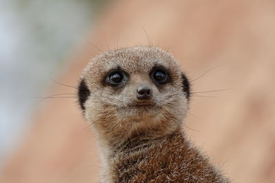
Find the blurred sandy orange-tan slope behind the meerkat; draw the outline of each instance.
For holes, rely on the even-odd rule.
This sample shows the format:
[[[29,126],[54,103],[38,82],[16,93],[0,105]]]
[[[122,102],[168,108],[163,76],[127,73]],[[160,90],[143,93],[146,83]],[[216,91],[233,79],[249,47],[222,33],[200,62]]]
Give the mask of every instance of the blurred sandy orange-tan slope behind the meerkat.
[[[194,92],[184,127],[235,182],[275,182],[274,1],[113,1],[87,40],[107,50],[137,44],[170,49]],[[76,50],[58,82],[77,86],[99,51]],[[108,46],[107,46],[108,45]],[[109,47],[109,48],[108,48]],[[74,93],[54,86],[52,94]],[[204,96],[204,97],[199,97]],[[96,182],[100,160],[76,99],[43,102],[0,182]]]

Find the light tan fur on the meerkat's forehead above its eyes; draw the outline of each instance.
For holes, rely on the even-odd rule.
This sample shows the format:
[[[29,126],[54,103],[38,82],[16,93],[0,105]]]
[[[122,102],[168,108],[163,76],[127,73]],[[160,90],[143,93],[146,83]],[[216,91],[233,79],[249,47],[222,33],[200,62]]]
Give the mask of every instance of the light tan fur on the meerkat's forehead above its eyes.
[[[158,65],[173,73],[181,72],[175,58],[166,51],[158,47],[137,46],[103,52],[92,58],[83,71],[83,77],[100,76],[117,67],[128,73],[148,73],[153,66]]]

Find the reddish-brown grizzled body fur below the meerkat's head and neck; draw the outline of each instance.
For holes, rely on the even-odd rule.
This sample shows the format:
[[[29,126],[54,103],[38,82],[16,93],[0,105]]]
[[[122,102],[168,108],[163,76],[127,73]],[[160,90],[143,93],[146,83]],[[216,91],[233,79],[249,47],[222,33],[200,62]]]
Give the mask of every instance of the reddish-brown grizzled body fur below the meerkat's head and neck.
[[[181,132],[134,138],[116,147],[109,163],[113,182],[229,182]]]

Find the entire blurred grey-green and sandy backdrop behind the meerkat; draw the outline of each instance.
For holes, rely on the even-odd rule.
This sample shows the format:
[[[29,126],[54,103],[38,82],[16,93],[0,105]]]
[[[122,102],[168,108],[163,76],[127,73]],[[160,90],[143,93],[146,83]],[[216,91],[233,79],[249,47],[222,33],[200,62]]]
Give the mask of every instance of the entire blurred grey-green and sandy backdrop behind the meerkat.
[[[0,182],[98,181],[94,134],[66,93],[100,50],[146,34],[193,81],[192,141],[235,182],[275,182],[274,1],[0,3]]]

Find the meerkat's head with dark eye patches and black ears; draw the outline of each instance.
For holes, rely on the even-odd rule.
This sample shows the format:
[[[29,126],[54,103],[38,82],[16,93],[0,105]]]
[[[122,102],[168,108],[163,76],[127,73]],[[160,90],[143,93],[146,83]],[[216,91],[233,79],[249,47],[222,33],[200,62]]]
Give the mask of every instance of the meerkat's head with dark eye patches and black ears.
[[[155,47],[129,47],[96,56],[78,86],[85,119],[108,143],[174,132],[186,116],[189,98],[190,86],[179,65]]]

